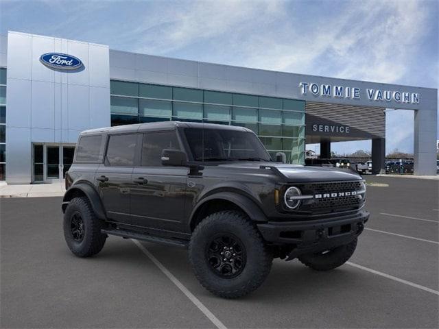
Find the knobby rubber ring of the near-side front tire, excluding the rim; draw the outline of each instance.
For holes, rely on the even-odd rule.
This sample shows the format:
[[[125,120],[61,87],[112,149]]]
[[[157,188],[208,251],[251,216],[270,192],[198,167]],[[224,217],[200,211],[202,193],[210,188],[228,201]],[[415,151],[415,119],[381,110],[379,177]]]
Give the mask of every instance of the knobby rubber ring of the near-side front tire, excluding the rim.
[[[214,221],[221,221],[222,223],[226,223],[227,221],[233,222],[235,225],[242,226],[248,236],[253,240],[254,248],[260,249],[261,256],[261,268],[257,273],[253,273],[252,280],[247,280],[246,284],[239,287],[239,289],[233,290],[217,290],[214,289],[209,282],[207,282],[204,276],[200,275],[198,271],[195,269],[195,263],[192,258],[192,248],[193,243],[191,239],[191,243],[189,243],[189,260],[192,264],[193,271],[195,273],[195,277],[202,284],[202,286],[210,291],[211,293],[218,295],[219,297],[224,297],[228,299],[243,297],[244,295],[248,295],[255,289],[261,286],[265,278],[267,278],[270,273],[270,269],[272,267],[273,256],[270,249],[265,245],[261,234],[254,226],[254,223],[250,221],[247,215],[242,212],[236,210],[224,210],[220,212],[215,212],[206,218],[204,218],[198,226],[195,227],[192,236],[197,236],[198,234],[202,234],[205,228],[211,225]]]

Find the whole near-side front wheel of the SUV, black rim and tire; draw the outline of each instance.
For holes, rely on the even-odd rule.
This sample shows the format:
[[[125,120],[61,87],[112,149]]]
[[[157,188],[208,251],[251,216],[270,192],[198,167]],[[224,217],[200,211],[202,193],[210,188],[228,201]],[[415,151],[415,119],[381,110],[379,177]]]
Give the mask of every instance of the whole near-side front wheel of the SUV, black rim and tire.
[[[246,215],[221,211],[195,228],[189,260],[204,288],[220,297],[237,298],[263,283],[273,256]]]

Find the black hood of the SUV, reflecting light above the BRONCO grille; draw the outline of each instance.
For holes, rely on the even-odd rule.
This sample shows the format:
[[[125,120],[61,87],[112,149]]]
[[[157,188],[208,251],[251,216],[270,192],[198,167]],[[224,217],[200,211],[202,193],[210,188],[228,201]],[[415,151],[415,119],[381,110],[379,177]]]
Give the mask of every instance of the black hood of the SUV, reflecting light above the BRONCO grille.
[[[284,164],[276,162],[233,162],[219,164],[219,167],[248,169],[248,170],[273,170],[282,175],[287,182],[329,182],[345,180],[361,180],[361,176],[350,169],[336,169],[328,167],[307,167],[300,164]]]

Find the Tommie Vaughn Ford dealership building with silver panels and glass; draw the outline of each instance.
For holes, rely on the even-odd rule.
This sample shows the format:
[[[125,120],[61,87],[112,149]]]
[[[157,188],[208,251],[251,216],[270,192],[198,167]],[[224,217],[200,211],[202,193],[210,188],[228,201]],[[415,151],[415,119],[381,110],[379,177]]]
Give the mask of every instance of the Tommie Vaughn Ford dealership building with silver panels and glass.
[[[273,60],[276,60],[275,58]],[[197,121],[253,130],[270,154],[305,162],[305,144],[372,141],[385,164],[385,110],[414,110],[414,173],[436,175],[434,88],[248,69],[8,32],[0,36],[0,180],[56,182],[82,130]]]

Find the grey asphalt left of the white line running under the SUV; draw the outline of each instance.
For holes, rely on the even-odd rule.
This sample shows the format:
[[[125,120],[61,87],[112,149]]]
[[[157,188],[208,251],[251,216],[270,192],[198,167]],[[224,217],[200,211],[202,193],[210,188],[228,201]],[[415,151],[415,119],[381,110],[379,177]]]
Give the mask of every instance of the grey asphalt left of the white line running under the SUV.
[[[1,199],[1,328],[214,328],[131,241],[77,258],[61,199]]]

